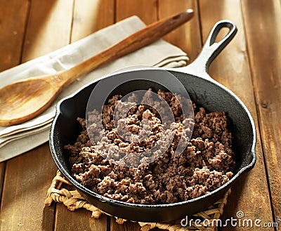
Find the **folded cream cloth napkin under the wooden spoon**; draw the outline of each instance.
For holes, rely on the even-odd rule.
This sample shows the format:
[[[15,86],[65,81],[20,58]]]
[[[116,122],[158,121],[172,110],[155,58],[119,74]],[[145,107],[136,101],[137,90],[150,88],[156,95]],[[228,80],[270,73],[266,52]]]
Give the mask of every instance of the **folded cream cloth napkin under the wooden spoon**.
[[[48,55],[1,72],[0,88],[13,81],[27,77],[53,74],[69,69],[143,27],[145,27],[145,24],[138,17],[126,18],[115,25],[101,29]],[[77,79],[77,81],[63,90],[51,107],[38,117],[15,126],[0,126],[0,161],[32,150],[32,148],[48,141],[49,129],[55,116],[55,105],[59,100],[79,90],[85,84],[89,84],[89,82],[115,70],[132,65],[182,67],[186,65],[186,62],[188,62],[188,57],[181,49],[159,39],[159,41],[155,41],[153,44],[125,55],[118,60],[110,62],[108,65],[99,67],[81,79]]]

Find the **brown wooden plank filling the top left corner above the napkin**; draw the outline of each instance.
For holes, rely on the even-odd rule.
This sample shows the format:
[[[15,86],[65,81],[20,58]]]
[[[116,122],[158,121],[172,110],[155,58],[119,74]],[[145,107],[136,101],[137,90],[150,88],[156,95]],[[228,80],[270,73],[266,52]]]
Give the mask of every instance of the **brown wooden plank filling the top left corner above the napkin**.
[[[0,1],[0,72],[20,63],[28,0]]]

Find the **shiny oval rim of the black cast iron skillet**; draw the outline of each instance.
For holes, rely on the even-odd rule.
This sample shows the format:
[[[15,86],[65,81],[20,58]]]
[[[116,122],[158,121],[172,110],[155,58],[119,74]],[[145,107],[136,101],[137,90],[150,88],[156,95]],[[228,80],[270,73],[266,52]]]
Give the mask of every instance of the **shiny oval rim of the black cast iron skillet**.
[[[180,69],[180,68],[178,68],[178,69]],[[184,67],[181,68],[181,70],[183,70],[183,69],[184,69]],[[83,185],[81,185],[80,183],[78,183],[77,180],[72,178],[72,176],[69,173],[67,173],[65,168],[60,163],[60,160],[58,158],[58,154],[55,151],[55,144],[54,144],[55,140],[54,140],[53,133],[55,131],[56,123],[57,123],[59,117],[61,116],[60,107],[64,102],[66,102],[67,100],[71,100],[72,98],[75,98],[75,96],[78,95],[81,91],[84,91],[85,88],[88,88],[93,84],[96,84],[101,79],[114,77],[115,74],[121,74],[122,73],[122,72],[117,71],[117,72],[114,72],[112,74],[107,74],[104,77],[101,77],[99,79],[95,79],[94,81],[91,81],[89,84],[86,84],[85,86],[82,86],[81,88],[79,88],[77,91],[75,91],[71,95],[61,99],[55,107],[55,117],[54,117],[53,122],[51,124],[51,130],[50,130],[50,133],[49,133],[49,141],[50,141],[49,143],[50,143],[50,148],[51,148],[51,154],[52,154],[52,157],[55,161],[55,164],[58,166],[58,169],[60,170],[60,172],[63,173],[63,176],[65,176],[65,178],[67,178],[67,180],[69,180],[70,183],[72,183],[72,185],[74,187],[78,187],[79,190],[81,190],[82,192],[84,191],[86,194],[90,194],[91,197],[94,197],[94,199],[96,199],[100,202],[113,204],[114,206],[117,206],[117,205],[122,206],[122,207],[128,207],[129,206],[131,208],[138,208],[138,209],[162,209],[162,208],[169,208],[169,207],[174,207],[174,206],[181,206],[181,205],[185,205],[185,204],[191,204],[193,202],[197,202],[197,201],[200,201],[202,199],[207,199],[208,197],[214,196],[214,194],[216,194],[217,192],[229,189],[231,187],[231,185],[233,185],[235,183],[235,181],[242,175],[242,173],[246,173],[247,171],[251,170],[254,167],[254,164],[256,163],[256,153],[255,153],[256,128],[255,128],[255,125],[254,125],[254,119],[251,117],[251,114],[250,114],[249,110],[244,105],[242,100],[240,100],[240,98],[238,98],[237,95],[235,95],[235,93],[233,93],[233,91],[230,91],[229,88],[226,88],[226,86],[223,86],[222,84],[218,83],[217,81],[215,81],[211,77],[210,78],[200,77],[198,74],[192,74],[190,72],[178,71],[178,70],[174,70],[172,68],[159,68],[159,67],[150,67],[149,69],[147,69],[147,68],[135,68],[135,69],[131,69],[129,71],[127,70],[126,72],[133,72],[133,71],[138,71],[138,70],[162,70],[162,71],[164,70],[164,71],[168,71],[168,72],[178,72],[178,73],[181,73],[181,74],[188,74],[188,75],[191,75],[192,77],[203,79],[204,81],[209,81],[211,84],[214,84],[219,88],[222,88],[223,91],[226,91],[226,93],[230,94],[230,96],[235,98],[235,100],[237,100],[237,103],[239,103],[240,106],[243,108],[243,110],[245,112],[247,112],[247,116],[248,116],[250,124],[251,124],[251,129],[252,129],[252,143],[251,143],[251,153],[250,153],[251,154],[251,162],[249,164],[247,164],[247,166],[242,167],[242,169],[240,169],[240,171],[237,171],[237,173],[235,173],[235,175],[232,178],[230,178],[230,180],[227,183],[225,183],[221,187],[218,187],[216,190],[213,190],[213,191],[209,192],[208,194],[204,194],[204,195],[202,195],[200,197],[196,197],[194,199],[189,199],[189,200],[184,201],[184,202],[176,202],[176,203],[171,203],[171,204],[132,204],[132,203],[127,203],[127,202],[120,202],[120,201],[117,201],[115,199],[110,199],[108,197],[104,197],[103,195],[100,195],[96,192],[93,192],[93,191],[89,190],[88,188],[84,187]]]

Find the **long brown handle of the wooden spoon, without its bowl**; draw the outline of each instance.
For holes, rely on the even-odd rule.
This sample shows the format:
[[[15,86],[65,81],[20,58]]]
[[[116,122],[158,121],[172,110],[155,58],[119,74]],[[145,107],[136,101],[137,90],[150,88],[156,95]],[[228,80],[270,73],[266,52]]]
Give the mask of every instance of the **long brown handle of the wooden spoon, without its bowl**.
[[[153,41],[160,39],[176,27],[183,25],[183,23],[190,20],[192,16],[193,11],[189,9],[183,13],[178,13],[169,18],[164,18],[163,20],[154,22],[88,60],[75,65],[69,70],[58,73],[61,79],[63,79],[62,88],[65,88],[82,75],[91,72],[96,67],[136,51],[138,48],[151,44]]]

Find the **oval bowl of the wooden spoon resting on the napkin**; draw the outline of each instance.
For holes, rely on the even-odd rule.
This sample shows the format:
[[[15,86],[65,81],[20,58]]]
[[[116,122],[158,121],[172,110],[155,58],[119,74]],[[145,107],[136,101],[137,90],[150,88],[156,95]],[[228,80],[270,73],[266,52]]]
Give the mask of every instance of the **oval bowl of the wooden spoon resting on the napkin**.
[[[56,92],[57,88],[44,78],[4,86],[0,94],[0,125],[20,124],[44,112],[58,95]]]

